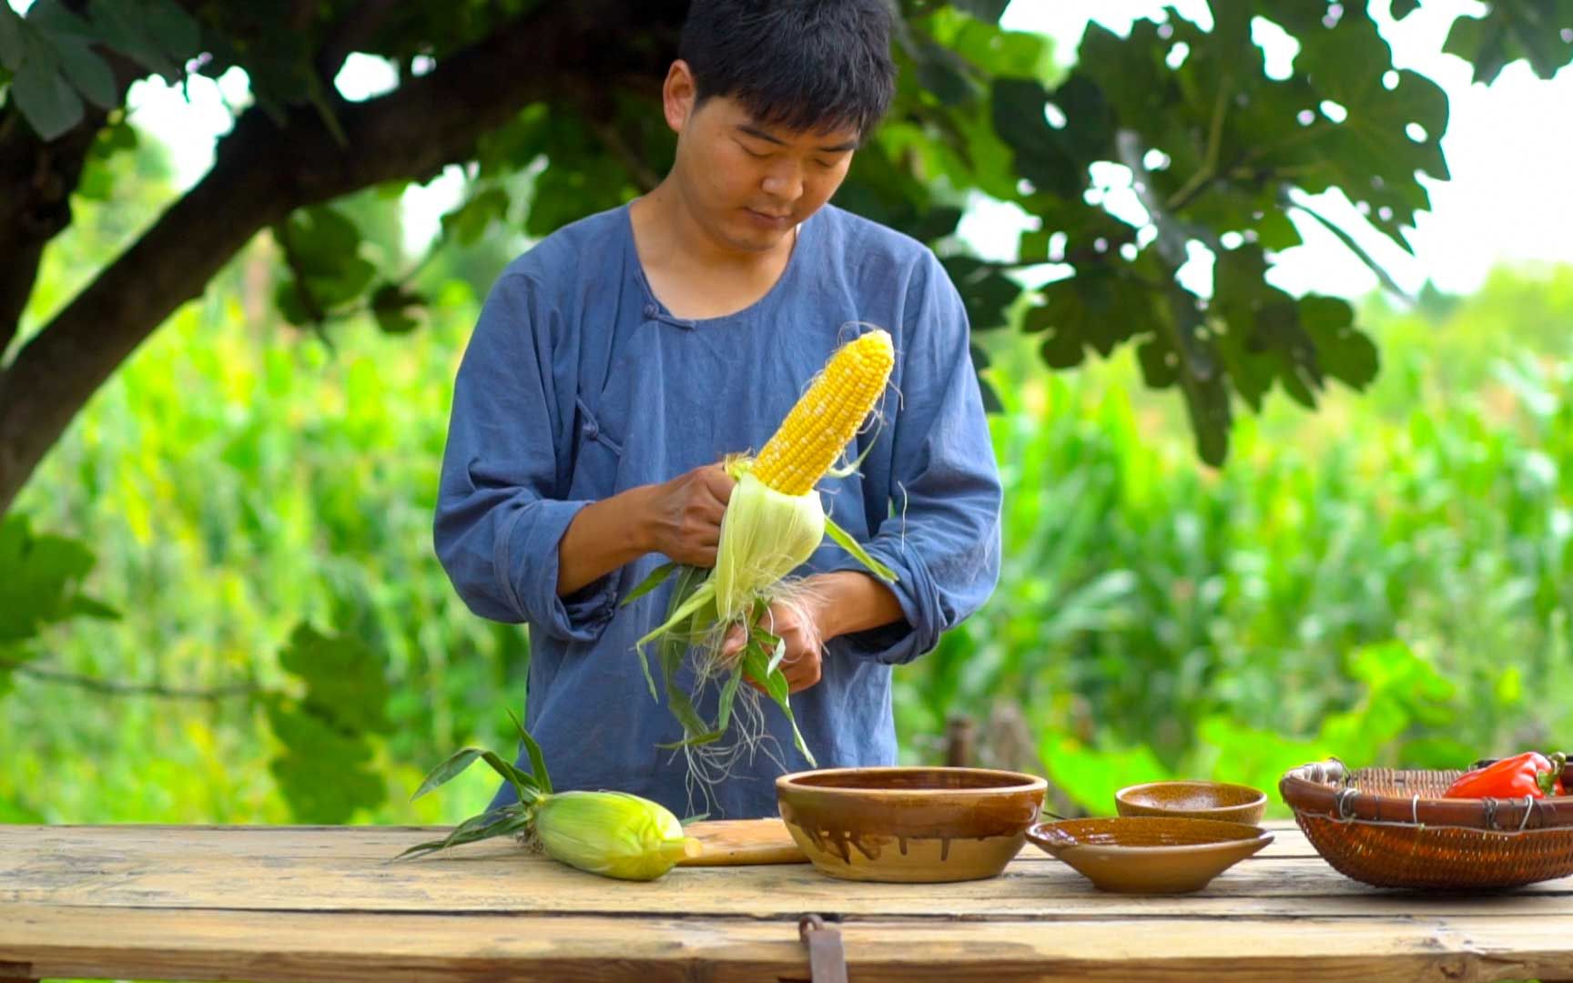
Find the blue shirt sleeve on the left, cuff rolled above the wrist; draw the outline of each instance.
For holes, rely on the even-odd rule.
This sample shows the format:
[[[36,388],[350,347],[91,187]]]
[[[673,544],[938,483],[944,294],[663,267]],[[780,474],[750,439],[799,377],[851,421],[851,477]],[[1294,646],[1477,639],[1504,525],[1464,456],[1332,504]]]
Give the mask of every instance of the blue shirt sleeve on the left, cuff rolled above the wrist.
[[[557,596],[557,550],[588,502],[562,497],[574,418],[552,376],[554,319],[525,274],[503,274],[486,297],[453,387],[433,539],[477,615],[595,642],[615,613],[615,577]]]

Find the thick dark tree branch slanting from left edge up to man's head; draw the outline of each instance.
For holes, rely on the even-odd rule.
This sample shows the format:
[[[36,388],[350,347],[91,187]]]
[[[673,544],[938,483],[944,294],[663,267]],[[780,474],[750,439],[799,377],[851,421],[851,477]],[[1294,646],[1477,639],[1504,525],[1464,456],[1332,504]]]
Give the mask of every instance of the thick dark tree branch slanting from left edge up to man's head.
[[[93,392],[258,230],[296,208],[467,159],[481,134],[530,102],[602,87],[629,68],[659,75],[659,46],[628,39],[675,38],[681,19],[678,0],[543,5],[387,96],[340,102],[348,148],[308,107],[283,127],[249,110],[212,170],[0,373],[0,514]]]

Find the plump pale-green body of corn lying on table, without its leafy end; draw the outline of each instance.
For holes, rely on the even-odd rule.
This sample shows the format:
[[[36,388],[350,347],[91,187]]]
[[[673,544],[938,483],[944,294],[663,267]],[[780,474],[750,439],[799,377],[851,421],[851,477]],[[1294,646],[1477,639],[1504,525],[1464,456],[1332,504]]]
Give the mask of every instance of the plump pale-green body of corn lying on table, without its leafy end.
[[[554,860],[623,881],[653,881],[700,852],[670,810],[623,791],[549,796],[536,808],[535,835]]]

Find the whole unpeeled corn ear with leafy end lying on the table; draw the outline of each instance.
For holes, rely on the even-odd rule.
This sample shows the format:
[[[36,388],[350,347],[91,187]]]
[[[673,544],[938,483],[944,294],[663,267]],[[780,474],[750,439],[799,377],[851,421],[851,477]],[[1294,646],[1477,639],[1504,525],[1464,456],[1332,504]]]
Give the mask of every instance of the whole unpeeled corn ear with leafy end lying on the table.
[[[513,717],[513,722],[530,753],[529,772],[519,771],[494,752],[466,747],[434,768],[412,801],[461,774],[477,760],[486,761],[508,780],[519,801],[472,816],[455,826],[445,840],[411,846],[395,859],[514,835],[540,845],[554,860],[593,874],[623,881],[654,881],[678,860],[700,854],[698,840],[683,835],[683,824],[659,802],[621,791],[552,791],[540,746],[518,717]]]

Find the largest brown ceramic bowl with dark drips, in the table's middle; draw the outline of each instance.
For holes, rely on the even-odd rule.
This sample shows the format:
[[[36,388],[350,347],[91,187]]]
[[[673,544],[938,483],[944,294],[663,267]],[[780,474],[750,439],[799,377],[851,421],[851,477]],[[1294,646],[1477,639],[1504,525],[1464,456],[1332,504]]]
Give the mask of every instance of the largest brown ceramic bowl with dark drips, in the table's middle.
[[[834,878],[977,881],[1021,851],[1046,788],[980,768],[834,768],[775,779],[775,799],[793,840]]]

